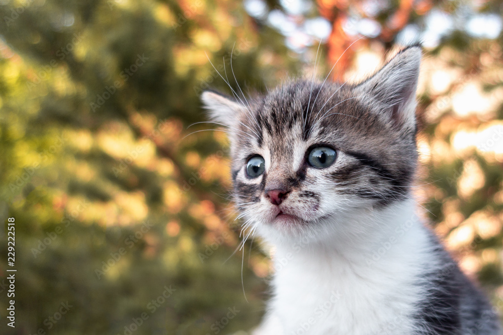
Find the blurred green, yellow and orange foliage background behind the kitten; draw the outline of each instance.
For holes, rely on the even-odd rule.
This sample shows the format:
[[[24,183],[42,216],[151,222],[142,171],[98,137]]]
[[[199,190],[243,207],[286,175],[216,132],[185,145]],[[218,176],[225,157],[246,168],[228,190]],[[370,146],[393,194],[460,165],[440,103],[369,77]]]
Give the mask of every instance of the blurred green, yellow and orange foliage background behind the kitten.
[[[358,80],[417,41],[414,193],[503,311],[502,4],[0,0],[0,332],[246,334],[271,267],[257,240],[233,255],[228,143],[192,125],[201,91],[264,92],[336,62],[329,80]]]

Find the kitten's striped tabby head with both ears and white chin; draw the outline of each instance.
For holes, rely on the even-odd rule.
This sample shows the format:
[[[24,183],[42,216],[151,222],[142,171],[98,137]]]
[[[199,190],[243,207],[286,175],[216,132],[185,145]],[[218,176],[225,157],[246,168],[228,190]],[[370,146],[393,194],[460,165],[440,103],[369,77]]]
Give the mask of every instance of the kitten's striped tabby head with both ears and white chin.
[[[420,60],[412,46],[361,83],[294,81],[247,101],[205,91],[230,132],[234,200],[249,226],[270,240],[358,234],[348,218],[407,198]]]

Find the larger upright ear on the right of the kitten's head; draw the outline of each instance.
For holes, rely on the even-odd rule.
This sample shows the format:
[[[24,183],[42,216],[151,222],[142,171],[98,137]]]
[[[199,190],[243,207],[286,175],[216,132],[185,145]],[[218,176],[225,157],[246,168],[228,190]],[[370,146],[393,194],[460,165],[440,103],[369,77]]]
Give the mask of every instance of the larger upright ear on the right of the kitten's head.
[[[420,63],[421,47],[407,47],[358,85],[365,95],[378,101],[377,109],[399,128],[415,129],[415,90]]]

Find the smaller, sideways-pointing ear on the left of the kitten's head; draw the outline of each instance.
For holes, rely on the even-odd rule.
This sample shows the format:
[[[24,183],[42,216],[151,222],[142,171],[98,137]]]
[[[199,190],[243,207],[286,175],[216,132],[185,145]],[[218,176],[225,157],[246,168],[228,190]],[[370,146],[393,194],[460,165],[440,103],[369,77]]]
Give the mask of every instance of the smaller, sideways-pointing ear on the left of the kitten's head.
[[[233,127],[237,115],[244,110],[241,104],[215,91],[204,91],[201,100],[210,112],[210,118],[228,127]]]

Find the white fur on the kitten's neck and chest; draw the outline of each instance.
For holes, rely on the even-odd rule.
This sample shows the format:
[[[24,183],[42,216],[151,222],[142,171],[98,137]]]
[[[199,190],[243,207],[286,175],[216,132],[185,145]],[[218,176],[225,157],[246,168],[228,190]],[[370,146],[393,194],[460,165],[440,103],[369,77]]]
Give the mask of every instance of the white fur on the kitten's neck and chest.
[[[356,241],[334,230],[319,242],[277,243],[267,225],[260,226],[261,235],[276,249],[277,272],[269,311],[254,335],[404,335],[413,331],[410,316],[422,295],[414,282],[424,267],[435,263],[428,250],[427,228],[414,214],[413,201],[337,221],[336,227],[375,229]]]

